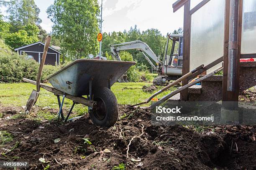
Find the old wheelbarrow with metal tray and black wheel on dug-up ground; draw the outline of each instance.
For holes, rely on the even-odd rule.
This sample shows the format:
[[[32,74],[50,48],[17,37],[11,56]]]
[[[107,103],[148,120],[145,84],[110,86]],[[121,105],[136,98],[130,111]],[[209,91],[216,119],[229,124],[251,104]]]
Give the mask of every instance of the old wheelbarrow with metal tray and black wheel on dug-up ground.
[[[75,104],[86,105],[95,125],[110,127],[118,119],[118,102],[110,87],[136,62],[79,59],[63,67],[47,79],[51,86],[40,83],[40,87],[53,92],[59,103],[59,117],[67,121]],[[23,78],[36,85],[36,81]],[[60,100],[62,97],[62,101]],[[73,101],[64,119],[64,99]]]

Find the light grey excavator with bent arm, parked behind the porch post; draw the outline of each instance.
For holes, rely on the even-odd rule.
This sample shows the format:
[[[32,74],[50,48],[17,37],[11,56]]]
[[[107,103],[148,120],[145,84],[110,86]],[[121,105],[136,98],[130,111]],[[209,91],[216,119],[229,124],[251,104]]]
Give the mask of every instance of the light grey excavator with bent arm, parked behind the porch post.
[[[158,73],[158,77],[153,80],[154,85],[166,84],[166,82],[177,80],[182,76],[183,35],[167,35],[167,41],[164,45],[164,52],[161,57],[157,57],[151,48],[145,42],[140,40],[110,45],[113,60],[118,61],[121,61],[119,56],[120,51],[132,49],[141,51],[149,64]],[[153,64],[145,53],[155,62],[155,64]],[[120,77],[118,82],[128,82],[127,73]]]

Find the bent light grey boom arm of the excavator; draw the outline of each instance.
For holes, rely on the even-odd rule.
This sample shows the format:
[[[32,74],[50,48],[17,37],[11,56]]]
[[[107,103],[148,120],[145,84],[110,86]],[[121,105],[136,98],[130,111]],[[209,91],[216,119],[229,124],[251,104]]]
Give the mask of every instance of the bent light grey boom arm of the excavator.
[[[149,62],[149,64],[156,70],[155,65],[151,62],[151,60],[145,55],[146,54],[152,58],[156,62],[156,65],[161,65],[162,62],[156,57],[156,54],[151,50],[151,48],[145,43],[140,40],[136,41],[131,41],[131,42],[123,42],[121,44],[115,44],[115,45],[110,45],[110,50],[111,50],[111,55],[114,60],[119,60],[121,61],[121,58],[119,56],[119,52],[123,50],[133,50],[137,49],[140,50],[146,60]]]

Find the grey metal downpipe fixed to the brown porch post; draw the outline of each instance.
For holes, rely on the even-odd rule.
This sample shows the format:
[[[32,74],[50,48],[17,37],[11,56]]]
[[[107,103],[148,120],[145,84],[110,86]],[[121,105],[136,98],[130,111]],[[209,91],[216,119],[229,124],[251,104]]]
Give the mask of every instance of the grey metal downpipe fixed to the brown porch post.
[[[228,42],[228,82],[227,90],[236,90],[237,79],[237,57],[238,57],[238,10],[239,0],[230,0],[230,22],[229,22],[229,42]]]

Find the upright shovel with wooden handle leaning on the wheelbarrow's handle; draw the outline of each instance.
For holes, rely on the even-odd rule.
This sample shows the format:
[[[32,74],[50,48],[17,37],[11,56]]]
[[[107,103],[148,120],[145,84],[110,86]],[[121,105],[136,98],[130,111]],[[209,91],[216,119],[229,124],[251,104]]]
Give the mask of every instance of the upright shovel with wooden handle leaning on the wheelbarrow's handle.
[[[39,96],[41,75],[42,75],[42,71],[43,71],[43,67],[44,67],[44,62],[46,59],[46,54],[47,54],[47,51],[48,51],[48,48],[50,45],[50,41],[51,41],[51,35],[47,35],[46,40],[45,40],[45,45],[44,45],[44,53],[42,56],[42,60],[40,62],[40,66],[39,66],[39,70],[38,70],[38,74],[37,74],[37,78],[36,78],[36,90],[33,90],[31,95],[28,98],[26,109],[25,109],[26,113],[30,112],[31,108],[36,103],[36,100]]]

